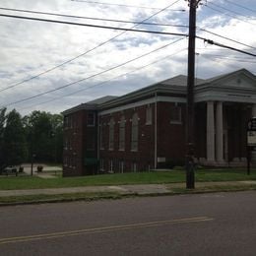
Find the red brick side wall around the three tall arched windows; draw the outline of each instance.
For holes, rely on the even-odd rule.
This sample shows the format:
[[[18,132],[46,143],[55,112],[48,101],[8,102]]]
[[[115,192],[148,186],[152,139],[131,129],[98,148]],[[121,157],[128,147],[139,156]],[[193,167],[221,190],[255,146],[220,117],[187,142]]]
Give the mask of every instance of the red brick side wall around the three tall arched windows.
[[[155,137],[154,137],[154,123],[155,123],[155,107],[152,106],[153,122],[151,125],[146,124],[146,108],[147,105],[130,108],[123,111],[112,113],[111,115],[100,116],[100,125],[103,127],[102,138],[104,138],[104,150],[100,150],[100,159],[104,160],[105,170],[109,170],[109,160],[113,160],[113,170],[119,172],[119,161],[124,161],[124,170],[131,171],[132,163],[137,164],[137,170],[148,170],[149,165],[154,167],[154,152],[155,152]],[[132,116],[137,112],[139,118],[139,144],[138,151],[131,151],[131,129]],[[125,150],[119,150],[119,121],[125,116]],[[109,121],[114,119],[114,148],[109,150]]]

